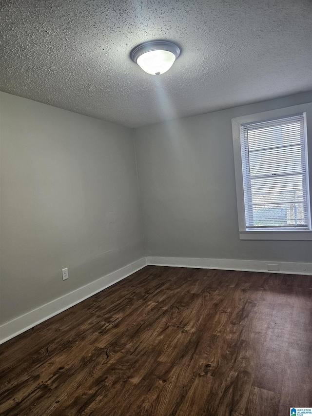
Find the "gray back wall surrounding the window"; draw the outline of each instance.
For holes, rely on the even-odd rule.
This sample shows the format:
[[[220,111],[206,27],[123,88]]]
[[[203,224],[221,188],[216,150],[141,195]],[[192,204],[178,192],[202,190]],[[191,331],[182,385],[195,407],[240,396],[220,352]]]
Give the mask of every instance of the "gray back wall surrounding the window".
[[[146,254],[312,261],[312,241],[241,241],[231,119],[312,101],[298,94],[136,130]],[[312,137],[310,182],[312,184]]]

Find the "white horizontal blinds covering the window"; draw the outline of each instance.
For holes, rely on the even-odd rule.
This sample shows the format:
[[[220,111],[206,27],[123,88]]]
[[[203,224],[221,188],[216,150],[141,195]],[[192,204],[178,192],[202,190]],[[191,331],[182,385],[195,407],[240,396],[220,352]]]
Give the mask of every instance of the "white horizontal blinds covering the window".
[[[246,230],[309,229],[304,115],[241,125]]]

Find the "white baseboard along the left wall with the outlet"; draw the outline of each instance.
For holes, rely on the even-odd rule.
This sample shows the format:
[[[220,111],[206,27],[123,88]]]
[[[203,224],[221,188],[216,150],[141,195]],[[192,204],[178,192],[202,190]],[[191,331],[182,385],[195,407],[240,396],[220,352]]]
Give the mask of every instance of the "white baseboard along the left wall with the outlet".
[[[27,331],[30,328],[33,328],[40,322],[58,315],[60,312],[69,309],[70,307],[76,305],[77,303],[87,299],[92,295],[95,295],[101,290],[113,285],[114,283],[117,283],[119,280],[132,275],[145,266],[146,257],[140,258],[139,260],[134,261],[133,263],[128,264],[127,266],[122,267],[113,273],[100,277],[98,280],[88,283],[87,285],[82,286],[79,289],[68,293],[67,295],[52,300],[51,302],[46,303],[45,305],[42,305],[33,311],[5,322],[4,324],[0,325],[0,344],[8,341],[13,337],[16,337],[17,335]]]

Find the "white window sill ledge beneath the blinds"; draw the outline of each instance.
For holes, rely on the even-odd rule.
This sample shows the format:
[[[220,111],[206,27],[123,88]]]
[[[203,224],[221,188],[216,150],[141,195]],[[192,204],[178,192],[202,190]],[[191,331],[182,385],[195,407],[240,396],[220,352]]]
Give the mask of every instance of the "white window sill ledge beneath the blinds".
[[[312,241],[312,231],[240,231],[239,239]]]

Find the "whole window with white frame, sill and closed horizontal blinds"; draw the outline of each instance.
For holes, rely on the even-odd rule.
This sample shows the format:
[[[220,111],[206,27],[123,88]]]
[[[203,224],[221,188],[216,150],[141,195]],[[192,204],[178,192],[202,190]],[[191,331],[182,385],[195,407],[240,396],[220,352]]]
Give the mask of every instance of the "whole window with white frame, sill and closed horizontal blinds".
[[[311,104],[236,118],[235,176],[241,239],[312,239],[307,111]]]

